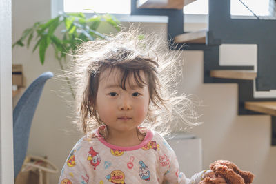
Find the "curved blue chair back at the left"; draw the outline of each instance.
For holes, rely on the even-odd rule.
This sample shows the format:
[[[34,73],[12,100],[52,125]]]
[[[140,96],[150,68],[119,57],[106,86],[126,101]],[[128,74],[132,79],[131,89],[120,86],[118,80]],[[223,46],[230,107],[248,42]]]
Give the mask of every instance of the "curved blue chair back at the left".
[[[44,84],[54,74],[45,72],[35,79],[13,110],[14,179],[20,172],[28,148],[30,127]]]

